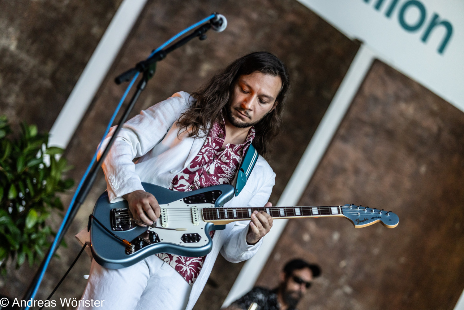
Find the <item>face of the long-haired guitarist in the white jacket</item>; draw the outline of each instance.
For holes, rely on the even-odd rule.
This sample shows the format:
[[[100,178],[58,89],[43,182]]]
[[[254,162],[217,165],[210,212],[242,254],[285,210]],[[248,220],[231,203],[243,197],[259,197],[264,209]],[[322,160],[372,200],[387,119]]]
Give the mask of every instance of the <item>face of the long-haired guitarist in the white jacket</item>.
[[[240,76],[233,88],[227,119],[238,128],[258,124],[274,109],[281,86],[279,76],[260,72]]]

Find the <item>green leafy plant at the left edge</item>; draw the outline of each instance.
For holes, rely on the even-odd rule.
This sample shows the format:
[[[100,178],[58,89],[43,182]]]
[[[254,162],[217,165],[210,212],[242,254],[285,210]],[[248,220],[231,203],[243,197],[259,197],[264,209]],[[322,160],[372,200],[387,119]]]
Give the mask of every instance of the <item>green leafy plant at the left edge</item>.
[[[57,192],[69,189],[74,181],[62,179],[70,167],[63,149],[48,146],[48,134],[35,125],[21,125],[17,139],[9,139],[11,127],[0,116],[0,271],[8,259],[19,268],[26,259],[32,265],[44,257],[55,232],[46,223],[53,211],[63,210]],[[49,155],[49,165],[45,157]]]

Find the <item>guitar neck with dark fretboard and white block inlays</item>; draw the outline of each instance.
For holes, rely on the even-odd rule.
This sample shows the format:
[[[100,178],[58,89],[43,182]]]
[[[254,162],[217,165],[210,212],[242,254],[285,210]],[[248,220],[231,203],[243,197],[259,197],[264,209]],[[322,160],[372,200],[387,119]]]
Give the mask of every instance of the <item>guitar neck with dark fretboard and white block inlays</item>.
[[[234,221],[251,219],[253,211],[264,211],[272,218],[317,218],[343,216],[342,206],[301,206],[301,207],[262,207],[262,208],[203,208],[202,215],[205,222],[213,224],[227,224]]]

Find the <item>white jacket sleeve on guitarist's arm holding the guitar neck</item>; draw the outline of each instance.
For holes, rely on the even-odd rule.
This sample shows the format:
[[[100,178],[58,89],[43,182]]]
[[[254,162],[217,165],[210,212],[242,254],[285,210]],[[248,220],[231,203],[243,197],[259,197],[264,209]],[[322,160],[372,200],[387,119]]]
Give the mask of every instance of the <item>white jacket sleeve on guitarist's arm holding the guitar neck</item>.
[[[268,169],[271,170],[271,167]],[[259,190],[253,194],[253,197],[247,205],[249,208],[263,207],[264,204],[268,202],[272,187],[275,184],[275,177],[276,174],[271,170],[271,176],[267,178]],[[247,244],[246,235],[248,233],[250,221],[238,221],[228,225],[232,225],[232,229],[225,238],[225,242],[220,251],[221,255],[231,263],[238,263],[253,257],[263,243],[263,238],[256,244]]]

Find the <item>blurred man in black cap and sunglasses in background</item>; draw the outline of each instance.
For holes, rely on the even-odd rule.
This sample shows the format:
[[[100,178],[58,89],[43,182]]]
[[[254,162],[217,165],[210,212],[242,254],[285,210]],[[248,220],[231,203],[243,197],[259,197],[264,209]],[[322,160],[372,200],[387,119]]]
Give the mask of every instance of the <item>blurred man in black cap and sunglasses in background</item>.
[[[257,310],[295,310],[298,302],[311,287],[311,281],[321,275],[321,268],[303,259],[293,259],[285,264],[279,276],[279,285],[271,290],[254,287],[234,301],[225,310],[247,310],[257,303]]]

